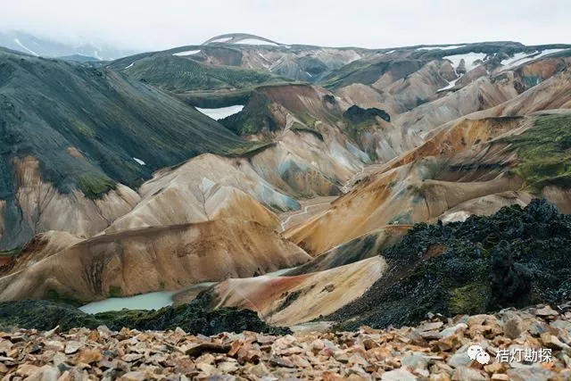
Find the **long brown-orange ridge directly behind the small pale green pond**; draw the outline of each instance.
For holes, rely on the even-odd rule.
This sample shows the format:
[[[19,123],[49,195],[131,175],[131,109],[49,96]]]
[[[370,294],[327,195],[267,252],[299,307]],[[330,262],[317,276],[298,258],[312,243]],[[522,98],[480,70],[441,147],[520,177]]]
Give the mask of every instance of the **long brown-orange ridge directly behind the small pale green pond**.
[[[139,228],[95,236],[0,277],[0,301],[91,302],[252,277],[310,260],[255,221]]]

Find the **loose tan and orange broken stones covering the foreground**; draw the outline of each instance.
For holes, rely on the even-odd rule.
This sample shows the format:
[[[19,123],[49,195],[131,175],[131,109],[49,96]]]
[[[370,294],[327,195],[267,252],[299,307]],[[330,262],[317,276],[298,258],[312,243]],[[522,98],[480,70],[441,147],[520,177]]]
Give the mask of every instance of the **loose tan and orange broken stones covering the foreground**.
[[[214,336],[107,327],[0,333],[5,380],[567,380],[571,303],[496,315],[432,316],[418,327]],[[478,344],[487,365],[470,360]],[[525,361],[525,350],[545,355]],[[520,353],[522,360],[503,359]],[[547,354],[550,354],[549,359]],[[498,360],[501,362],[498,362]],[[503,360],[506,360],[503,362]],[[511,362],[510,362],[511,360]]]

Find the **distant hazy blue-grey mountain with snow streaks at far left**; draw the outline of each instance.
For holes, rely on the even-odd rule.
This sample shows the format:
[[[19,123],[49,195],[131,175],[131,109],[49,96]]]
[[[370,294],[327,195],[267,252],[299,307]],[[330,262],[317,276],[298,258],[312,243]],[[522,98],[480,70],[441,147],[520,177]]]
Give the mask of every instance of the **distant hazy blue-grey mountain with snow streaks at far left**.
[[[67,57],[71,61],[82,61],[78,59],[79,57],[90,57],[93,59],[92,61],[112,61],[136,53],[132,50],[98,46],[91,43],[74,46],[20,31],[0,32],[0,46],[46,58]]]

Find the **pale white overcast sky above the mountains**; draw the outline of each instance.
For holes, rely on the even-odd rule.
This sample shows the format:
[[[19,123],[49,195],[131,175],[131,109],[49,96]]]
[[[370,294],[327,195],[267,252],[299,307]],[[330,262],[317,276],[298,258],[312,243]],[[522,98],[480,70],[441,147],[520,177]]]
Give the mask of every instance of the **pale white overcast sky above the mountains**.
[[[0,0],[0,28],[135,49],[247,32],[285,44],[571,43],[571,0]]]

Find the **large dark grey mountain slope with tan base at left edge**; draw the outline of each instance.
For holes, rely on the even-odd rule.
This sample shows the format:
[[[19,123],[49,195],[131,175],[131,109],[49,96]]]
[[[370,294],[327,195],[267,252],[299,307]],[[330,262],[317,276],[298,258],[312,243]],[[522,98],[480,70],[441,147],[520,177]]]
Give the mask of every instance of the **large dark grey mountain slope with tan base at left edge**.
[[[110,191],[134,194],[120,183],[138,186],[198,153],[249,146],[178,99],[111,70],[2,50],[0,110],[0,247],[64,228],[54,221],[70,208],[82,211],[70,213],[70,228],[82,219],[100,219],[101,227],[137,202],[129,195],[128,205],[101,218],[105,204],[119,202],[105,199]]]

